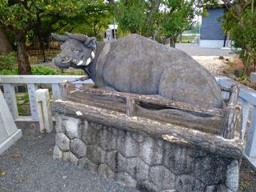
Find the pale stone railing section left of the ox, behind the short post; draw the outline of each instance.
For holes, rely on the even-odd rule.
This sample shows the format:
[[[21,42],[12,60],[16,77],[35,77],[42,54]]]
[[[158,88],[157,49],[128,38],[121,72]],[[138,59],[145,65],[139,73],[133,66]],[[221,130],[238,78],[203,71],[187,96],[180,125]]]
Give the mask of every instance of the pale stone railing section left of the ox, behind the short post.
[[[62,86],[64,81],[73,82],[80,75],[0,75],[0,84],[3,86],[4,96],[10,108],[10,113],[15,121],[38,121],[38,108],[35,98],[35,91],[38,90],[38,84],[50,84],[54,100],[62,99]],[[76,87],[82,84],[93,83],[90,79],[85,81],[76,81],[73,84]],[[29,100],[31,116],[19,116],[18,106],[15,96],[15,84],[26,84]]]

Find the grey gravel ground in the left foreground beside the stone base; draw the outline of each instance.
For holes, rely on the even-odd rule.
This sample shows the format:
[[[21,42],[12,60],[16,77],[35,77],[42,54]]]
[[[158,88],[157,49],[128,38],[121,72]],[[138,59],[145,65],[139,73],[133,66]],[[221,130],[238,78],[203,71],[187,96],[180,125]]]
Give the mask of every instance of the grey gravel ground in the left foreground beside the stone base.
[[[18,124],[23,137],[0,155],[1,192],[134,192],[78,166],[52,158],[54,134],[38,134],[38,125]]]

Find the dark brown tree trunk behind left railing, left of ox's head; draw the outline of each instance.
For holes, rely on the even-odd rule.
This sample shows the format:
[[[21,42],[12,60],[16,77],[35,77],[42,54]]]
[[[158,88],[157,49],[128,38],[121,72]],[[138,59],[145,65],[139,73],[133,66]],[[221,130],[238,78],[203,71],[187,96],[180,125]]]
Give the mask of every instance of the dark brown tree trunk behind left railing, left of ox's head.
[[[29,57],[26,54],[26,36],[17,39],[18,74],[31,74]]]

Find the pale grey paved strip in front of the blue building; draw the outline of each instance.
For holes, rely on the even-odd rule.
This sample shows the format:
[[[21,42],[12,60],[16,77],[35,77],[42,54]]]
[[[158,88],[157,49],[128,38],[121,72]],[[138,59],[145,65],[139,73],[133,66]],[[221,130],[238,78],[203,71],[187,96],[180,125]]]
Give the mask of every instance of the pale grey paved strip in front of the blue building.
[[[176,48],[193,56],[232,56],[231,50],[202,48],[191,43],[176,43]]]

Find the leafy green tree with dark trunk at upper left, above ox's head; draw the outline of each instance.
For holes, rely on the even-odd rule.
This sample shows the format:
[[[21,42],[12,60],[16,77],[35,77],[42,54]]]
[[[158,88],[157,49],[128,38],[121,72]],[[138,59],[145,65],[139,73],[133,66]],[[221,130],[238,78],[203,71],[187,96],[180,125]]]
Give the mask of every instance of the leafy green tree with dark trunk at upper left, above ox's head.
[[[110,18],[109,5],[103,0],[2,0],[0,3],[0,27],[13,34],[22,74],[30,74],[25,53],[27,39],[34,40],[37,36],[42,48],[51,32],[67,30],[97,36]]]

